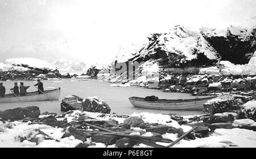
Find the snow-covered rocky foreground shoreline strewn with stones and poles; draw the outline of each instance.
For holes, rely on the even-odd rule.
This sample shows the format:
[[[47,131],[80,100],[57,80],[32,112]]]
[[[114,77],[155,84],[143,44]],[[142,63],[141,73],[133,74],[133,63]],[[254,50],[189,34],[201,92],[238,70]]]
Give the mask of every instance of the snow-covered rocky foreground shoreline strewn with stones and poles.
[[[255,109],[254,104],[255,101],[249,102],[244,108]],[[3,112],[0,112],[0,147],[152,147],[138,141],[134,143],[129,137],[104,135],[98,132],[98,128],[86,123],[119,134],[169,139],[170,143],[197,126],[174,147],[256,147],[256,122],[253,119],[237,119],[237,114],[232,112],[177,116],[154,113],[115,115],[80,110],[57,115],[48,112],[40,114],[39,111],[37,115],[27,114],[23,119],[9,120],[9,114]],[[155,144],[167,146],[170,143],[159,141]]]

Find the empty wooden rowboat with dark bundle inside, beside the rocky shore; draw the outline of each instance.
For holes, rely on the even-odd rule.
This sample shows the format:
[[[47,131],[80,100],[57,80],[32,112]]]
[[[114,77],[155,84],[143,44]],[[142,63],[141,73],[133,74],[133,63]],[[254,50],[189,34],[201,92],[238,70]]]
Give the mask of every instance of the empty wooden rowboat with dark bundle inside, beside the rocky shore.
[[[163,109],[163,110],[203,110],[203,104],[217,96],[195,98],[188,100],[158,100],[145,101],[141,97],[130,97],[129,100],[135,108]]]

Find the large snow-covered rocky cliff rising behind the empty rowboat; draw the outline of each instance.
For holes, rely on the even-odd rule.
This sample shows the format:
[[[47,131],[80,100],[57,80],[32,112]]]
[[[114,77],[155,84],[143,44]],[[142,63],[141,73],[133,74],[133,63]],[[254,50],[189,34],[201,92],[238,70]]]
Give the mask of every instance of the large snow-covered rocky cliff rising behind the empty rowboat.
[[[124,62],[124,57],[126,61],[160,59],[159,64],[167,67],[212,66],[220,60],[246,64],[255,50],[256,25],[197,30],[176,25],[167,33],[151,34],[141,48],[118,53],[115,60]]]

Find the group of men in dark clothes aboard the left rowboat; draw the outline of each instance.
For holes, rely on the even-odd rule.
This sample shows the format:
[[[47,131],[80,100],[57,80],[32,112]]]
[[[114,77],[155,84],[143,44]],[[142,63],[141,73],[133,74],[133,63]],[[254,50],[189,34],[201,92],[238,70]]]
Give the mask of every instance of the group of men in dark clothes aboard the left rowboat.
[[[38,83],[35,84],[35,86],[38,85],[38,94],[42,94],[44,91],[43,83],[40,79],[38,79]],[[26,96],[27,89],[30,86],[24,86],[23,82],[20,82],[20,86],[18,87],[18,83],[14,83],[14,87],[10,89],[11,92],[13,92],[14,96]],[[0,83],[0,97],[5,97],[5,87],[3,86],[3,83]]]

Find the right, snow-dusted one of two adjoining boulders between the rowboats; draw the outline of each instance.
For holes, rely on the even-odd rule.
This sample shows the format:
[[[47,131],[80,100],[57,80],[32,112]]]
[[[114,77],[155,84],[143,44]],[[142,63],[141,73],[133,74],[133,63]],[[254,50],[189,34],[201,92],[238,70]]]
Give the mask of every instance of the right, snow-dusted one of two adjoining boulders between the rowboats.
[[[94,96],[87,97],[84,100],[82,100],[80,110],[109,114],[111,109],[104,100],[101,100],[100,98]]]

